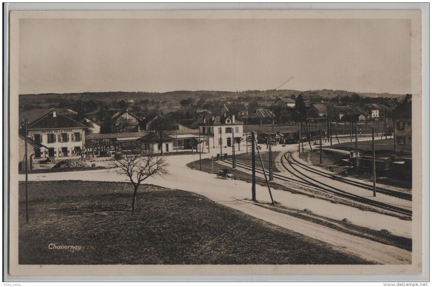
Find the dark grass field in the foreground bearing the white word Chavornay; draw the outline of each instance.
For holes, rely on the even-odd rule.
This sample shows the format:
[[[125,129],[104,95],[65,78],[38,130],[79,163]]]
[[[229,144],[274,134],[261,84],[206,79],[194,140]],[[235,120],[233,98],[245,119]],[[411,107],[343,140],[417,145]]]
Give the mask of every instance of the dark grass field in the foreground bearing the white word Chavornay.
[[[182,190],[130,184],[19,184],[19,264],[373,264]],[[48,245],[80,245],[80,250]]]

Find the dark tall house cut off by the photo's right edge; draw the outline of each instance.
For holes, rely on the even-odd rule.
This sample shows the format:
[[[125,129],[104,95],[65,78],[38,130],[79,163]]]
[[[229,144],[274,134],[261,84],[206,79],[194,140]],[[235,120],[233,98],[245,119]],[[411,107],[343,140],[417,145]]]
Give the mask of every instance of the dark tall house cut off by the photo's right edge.
[[[394,128],[394,153],[402,155],[412,154],[412,102],[411,95],[407,95],[405,101],[388,114],[393,120]]]

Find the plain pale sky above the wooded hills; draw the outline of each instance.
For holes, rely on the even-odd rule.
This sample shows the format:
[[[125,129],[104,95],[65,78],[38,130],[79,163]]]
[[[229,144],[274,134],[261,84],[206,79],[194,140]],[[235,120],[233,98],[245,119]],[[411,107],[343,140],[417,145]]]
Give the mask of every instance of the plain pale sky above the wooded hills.
[[[409,19],[20,19],[19,94],[411,92]]]

